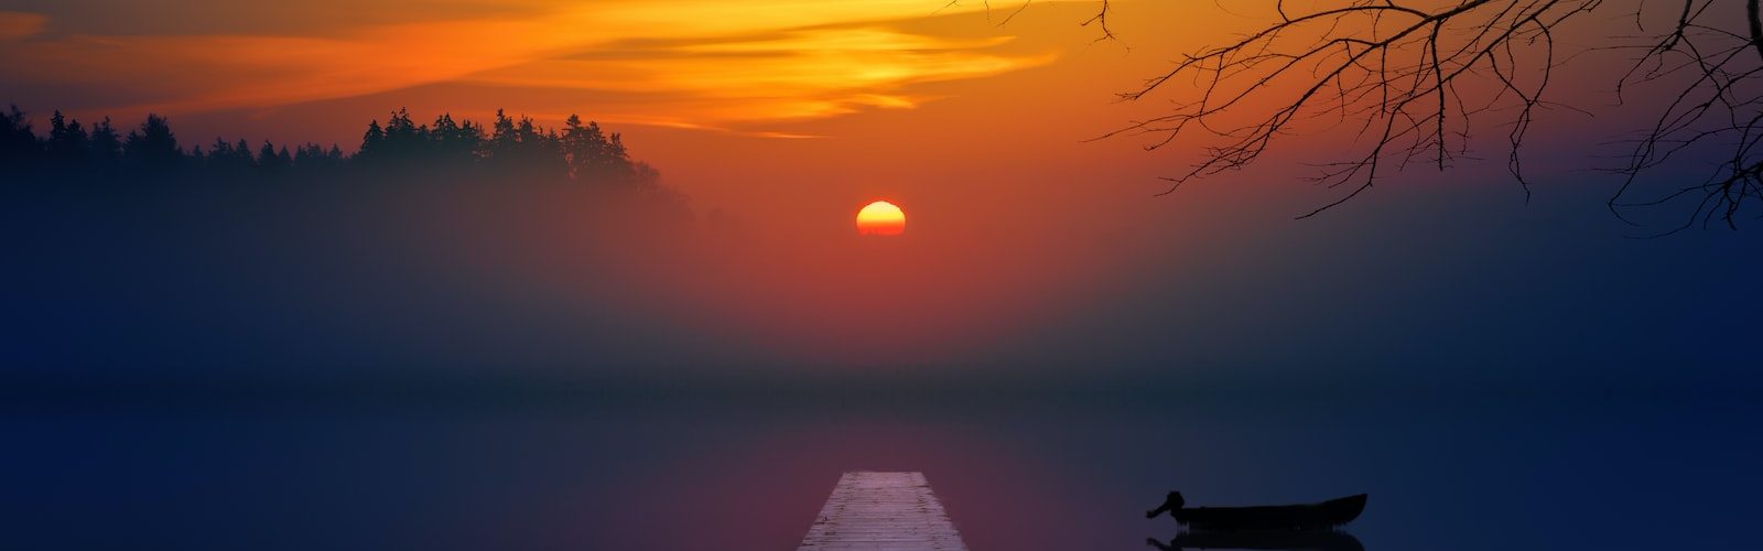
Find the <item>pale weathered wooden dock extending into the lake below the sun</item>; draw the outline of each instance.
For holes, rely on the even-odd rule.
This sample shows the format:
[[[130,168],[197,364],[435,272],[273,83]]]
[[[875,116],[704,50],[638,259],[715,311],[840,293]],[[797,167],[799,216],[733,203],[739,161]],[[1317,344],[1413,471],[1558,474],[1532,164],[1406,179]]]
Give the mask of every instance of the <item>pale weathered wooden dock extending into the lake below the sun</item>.
[[[797,551],[966,551],[924,473],[839,477]]]

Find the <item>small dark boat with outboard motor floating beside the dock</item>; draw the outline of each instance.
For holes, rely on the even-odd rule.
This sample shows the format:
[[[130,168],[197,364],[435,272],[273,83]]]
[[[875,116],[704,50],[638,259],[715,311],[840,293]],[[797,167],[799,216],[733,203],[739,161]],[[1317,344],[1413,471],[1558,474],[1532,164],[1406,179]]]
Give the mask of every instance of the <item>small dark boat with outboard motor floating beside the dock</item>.
[[[1186,507],[1179,491],[1169,493],[1162,507],[1148,510],[1144,517],[1157,517],[1169,512],[1194,530],[1328,530],[1352,523],[1365,512],[1366,494],[1345,496],[1308,505],[1262,505],[1262,507]]]

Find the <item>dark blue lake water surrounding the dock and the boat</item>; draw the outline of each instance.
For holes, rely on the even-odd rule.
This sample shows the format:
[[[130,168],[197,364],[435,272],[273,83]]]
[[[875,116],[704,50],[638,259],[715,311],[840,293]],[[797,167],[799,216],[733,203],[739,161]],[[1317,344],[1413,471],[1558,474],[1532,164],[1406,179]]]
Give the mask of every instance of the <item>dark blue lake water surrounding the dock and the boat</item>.
[[[844,470],[973,549],[1149,549],[1142,510],[1370,493],[1366,549],[1751,549],[1763,408],[143,403],[0,420],[9,549],[793,549]],[[695,404],[696,403],[696,404]]]

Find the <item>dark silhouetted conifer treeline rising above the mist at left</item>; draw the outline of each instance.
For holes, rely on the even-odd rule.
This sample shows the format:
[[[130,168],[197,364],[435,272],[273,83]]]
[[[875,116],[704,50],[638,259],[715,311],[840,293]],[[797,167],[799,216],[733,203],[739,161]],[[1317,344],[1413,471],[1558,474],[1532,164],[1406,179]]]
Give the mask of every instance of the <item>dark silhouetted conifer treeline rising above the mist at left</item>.
[[[146,115],[123,132],[109,117],[86,125],[55,111],[48,134],[39,136],[28,113],[11,106],[0,111],[0,164],[9,180],[23,177],[14,185],[520,180],[672,194],[659,187],[652,168],[631,161],[617,132],[584,124],[577,115],[562,129],[545,129],[501,109],[488,127],[453,115],[416,124],[407,109],[398,109],[384,125],[370,122],[360,148],[344,154],[337,145],[252,145],[222,138],[185,148],[159,115]]]

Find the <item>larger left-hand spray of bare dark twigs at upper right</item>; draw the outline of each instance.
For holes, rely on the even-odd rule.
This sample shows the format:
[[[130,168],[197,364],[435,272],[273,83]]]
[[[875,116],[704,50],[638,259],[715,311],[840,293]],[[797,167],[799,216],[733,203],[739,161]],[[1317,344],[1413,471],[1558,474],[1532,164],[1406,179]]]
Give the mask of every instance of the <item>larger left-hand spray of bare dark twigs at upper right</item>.
[[[1109,136],[1153,136],[1148,148],[1194,132],[1216,138],[1202,161],[1167,178],[1171,185],[1164,192],[1171,192],[1188,180],[1252,164],[1301,122],[1319,117],[1363,120],[1359,154],[1324,164],[1315,177],[1326,187],[1345,189],[1343,194],[1299,215],[1310,217],[1365,192],[1386,171],[1417,157],[1437,170],[1451,168],[1467,154],[1476,115],[1516,106],[1509,170],[1529,185],[1518,150],[1534,111],[1546,106],[1544,92],[1555,69],[1551,30],[1597,4],[1465,0],[1421,7],[1356,0],[1299,11],[1278,2],[1278,19],[1266,28],[1190,55],[1121,95],[1137,101],[1186,79],[1195,85],[1197,99]],[[1472,97],[1477,92],[1481,97]],[[1241,122],[1241,111],[1261,104],[1273,108]],[[1396,166],[1386,166],[1389,162]]]

